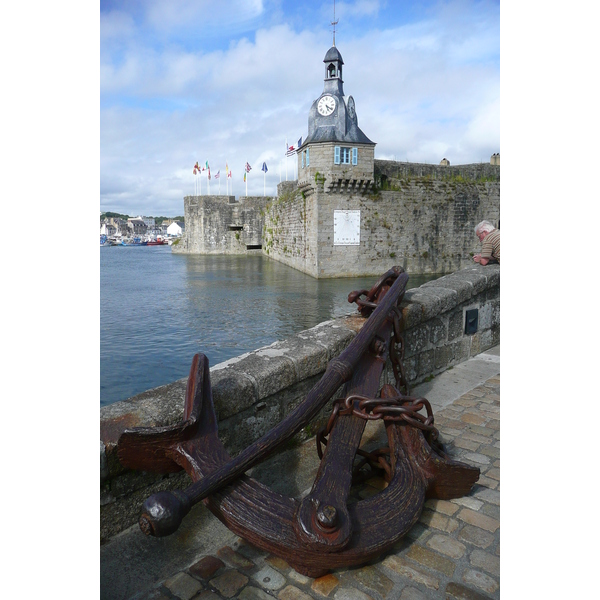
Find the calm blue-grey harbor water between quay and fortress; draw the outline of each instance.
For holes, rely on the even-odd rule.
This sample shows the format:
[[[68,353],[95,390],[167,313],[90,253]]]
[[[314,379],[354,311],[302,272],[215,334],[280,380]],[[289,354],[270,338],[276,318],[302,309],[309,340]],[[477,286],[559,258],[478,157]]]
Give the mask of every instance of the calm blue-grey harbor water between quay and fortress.
[[[409,288],[437,277],[409,276]],[[100,248],[100,404],[186,377],[197,352],[215,365],[352,314],[348,294],[377,279],[314,279],[262,255]]]

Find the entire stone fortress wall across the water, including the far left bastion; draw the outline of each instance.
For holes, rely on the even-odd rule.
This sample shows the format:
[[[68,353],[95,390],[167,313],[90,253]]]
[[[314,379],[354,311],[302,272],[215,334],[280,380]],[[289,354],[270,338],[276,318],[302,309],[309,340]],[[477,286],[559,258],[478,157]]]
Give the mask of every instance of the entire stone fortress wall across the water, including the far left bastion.
[[[311,161],[312,162],[312,161]],[[277,198],[187,196],[173,252],[266,255],[313,277],[378,275],[381,261],[411,273],[448,273],[479,249],[473,229],[500,224],[500,167],[374,161],[376,188],[325,178],[278,186]],[[329,182],[331,183],[331,182]],[[337,184],[336,184],[337,185]],[[360,211],[360,244],[334,245],[334,211]]]

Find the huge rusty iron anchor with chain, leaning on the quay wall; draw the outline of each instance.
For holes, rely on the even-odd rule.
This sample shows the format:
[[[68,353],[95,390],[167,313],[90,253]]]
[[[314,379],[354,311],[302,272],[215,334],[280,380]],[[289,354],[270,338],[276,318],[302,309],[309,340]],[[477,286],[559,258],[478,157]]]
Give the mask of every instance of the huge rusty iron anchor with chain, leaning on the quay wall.
[[[365,563],[390,548],[415,524],[426,498],[467,494],[479,469],[444,452],[431,406],[408,395],[398,308],[407,281],[403,269],[393,267],[371,290],[349,295],[368,316],[361,331],[329,361],[303,404],[233,459],[218,437],[208,359],[195,355],[183,421],[126,430],[118,441],[124,466],[159,473],[183,468],[193,481],[185,490],[159,492],[146,500],[139,521],[144,533],[173,533],[202,500],[251,544],[283,558],[299,573],[319,577]],[[379,390],[388,357],[396,385]],[[275,493],[244,474],[308,425],[342,385],[342,398],[333,403],[329,422],[317,435],[321,463],[305,498],[297,501]],[[365,452],[359,445],[372,419],[384,420],[389,448]],[[365,463],[381,469],[388,485],[375,496],[348,503],[353,475]]]

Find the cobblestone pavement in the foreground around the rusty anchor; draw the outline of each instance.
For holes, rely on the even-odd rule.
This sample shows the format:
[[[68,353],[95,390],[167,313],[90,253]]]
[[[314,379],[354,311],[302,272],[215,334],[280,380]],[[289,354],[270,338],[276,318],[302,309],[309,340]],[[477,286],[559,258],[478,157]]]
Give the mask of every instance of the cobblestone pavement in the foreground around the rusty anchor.
[[[366,566],[312,579],[238,538],[132,600],[498,599],[499,419],[499,375],[436,412],[435,424],[448,453],[479,467],[479,481],[464,498],[427,500],[407,536]],[[377,493],[382,485],[383,480],[371,479],[358,495]]]

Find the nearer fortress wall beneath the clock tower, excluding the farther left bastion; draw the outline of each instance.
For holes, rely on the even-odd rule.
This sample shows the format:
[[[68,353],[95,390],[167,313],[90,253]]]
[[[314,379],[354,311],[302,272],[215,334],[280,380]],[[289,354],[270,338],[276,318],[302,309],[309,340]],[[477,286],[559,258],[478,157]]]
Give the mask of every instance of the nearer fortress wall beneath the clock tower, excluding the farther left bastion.
[[[400,264],[409,273],[443,274],[472,263],[479,249],[473,231],[477,223],[500,221],[498,181],[467,180],[460,174],[448,180],[428,175],[397,179],[390,172],[384,185],[387,190],[367,194],[324,193],[317,186],[314,193],[296,191],[286,202],[270,205],[265,252],[319,278],[377,275],[382,261]],[[360,211],[360,245],[334,245],[335,210]],[[316,240],[296,233],[305,215],[318,223],[311,230]]]

